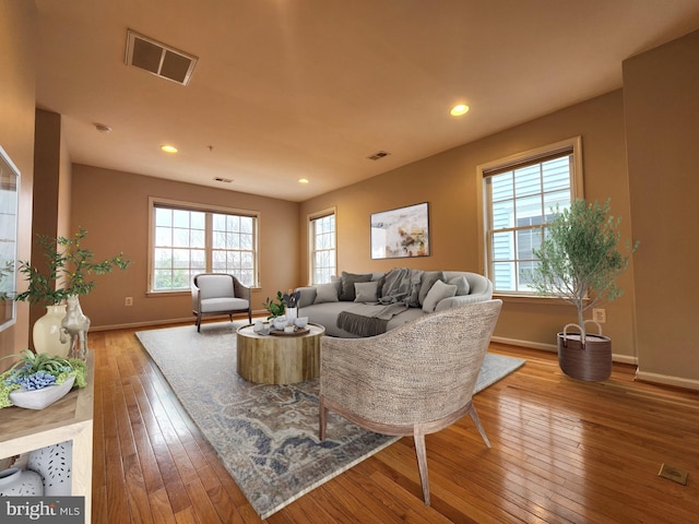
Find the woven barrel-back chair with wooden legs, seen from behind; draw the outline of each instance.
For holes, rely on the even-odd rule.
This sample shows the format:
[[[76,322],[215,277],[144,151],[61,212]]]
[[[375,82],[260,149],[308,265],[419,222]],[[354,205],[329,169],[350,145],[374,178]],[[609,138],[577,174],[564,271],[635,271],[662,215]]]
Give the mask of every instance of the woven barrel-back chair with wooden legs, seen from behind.
[[[388,333],[320,343],[320,440],[328,412],[381,434],[413,436],[425,504],[429,480],[425,434],[465,415],[490,441],[472,403],[501,300],[426,314]]]

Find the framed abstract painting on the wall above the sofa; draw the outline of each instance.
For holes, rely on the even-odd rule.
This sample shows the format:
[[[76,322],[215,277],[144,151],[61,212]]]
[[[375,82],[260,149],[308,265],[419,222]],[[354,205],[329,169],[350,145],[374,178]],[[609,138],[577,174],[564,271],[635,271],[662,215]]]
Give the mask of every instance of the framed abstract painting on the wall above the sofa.
[[[371,258],[429,257],[427,202],[371,214]]]

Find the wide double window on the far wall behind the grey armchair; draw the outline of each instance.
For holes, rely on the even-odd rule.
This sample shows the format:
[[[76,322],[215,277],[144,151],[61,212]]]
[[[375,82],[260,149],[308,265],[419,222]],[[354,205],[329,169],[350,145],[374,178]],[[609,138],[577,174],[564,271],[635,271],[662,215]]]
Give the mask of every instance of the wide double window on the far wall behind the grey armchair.
[[[186,290],[198,273],[257,284],[254,212],[151,199],[151,291]]]

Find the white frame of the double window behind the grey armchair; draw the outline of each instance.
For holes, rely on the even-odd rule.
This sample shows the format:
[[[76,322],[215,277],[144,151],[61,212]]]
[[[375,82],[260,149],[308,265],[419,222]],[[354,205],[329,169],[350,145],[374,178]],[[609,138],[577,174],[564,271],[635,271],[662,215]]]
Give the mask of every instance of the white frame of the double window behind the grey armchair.
[[[177,288],[177,289],[154,289],[154,255],[155,255],[155,209],[156,207],[168,207],[174,210],[183,210],[183,211],[193,211],[193,212],[203,212],[208,214],[226,214],[226,215],[238,215],[253,218],[253,240],[252,240],[252,257],[253,257],[253,282],[251,287],[259,287],[259,229],[260,229],[260,212],[250,211],[250,210],[240,210],[235,207],[225,207],[218,205],[210,205],[210,204],[201,204],[196,202],[185,202],[179,200],[169,200],[169,199],[161,199],[156,196],[149,196],[149,254],[147,254],[147,294],[149,295],[163,295],[163,294],[182,294],[190,293],[189,286],[187,289]],[[211,216],[208,215],[205,224],[205,271],[212,271],[213,264],[213,255],[212,255],[212,221]],[[192,275],[193,276],[193,275]]]

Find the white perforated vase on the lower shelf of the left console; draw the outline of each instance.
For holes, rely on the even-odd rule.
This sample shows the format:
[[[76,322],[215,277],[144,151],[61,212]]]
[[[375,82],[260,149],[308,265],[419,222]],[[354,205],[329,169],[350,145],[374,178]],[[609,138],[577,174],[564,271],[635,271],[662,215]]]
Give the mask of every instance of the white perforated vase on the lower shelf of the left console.
[[[72,491],[72,463],[73,441],[68,440],[29,452],[26,467],[44,479],[45,496],[68,497]]]

